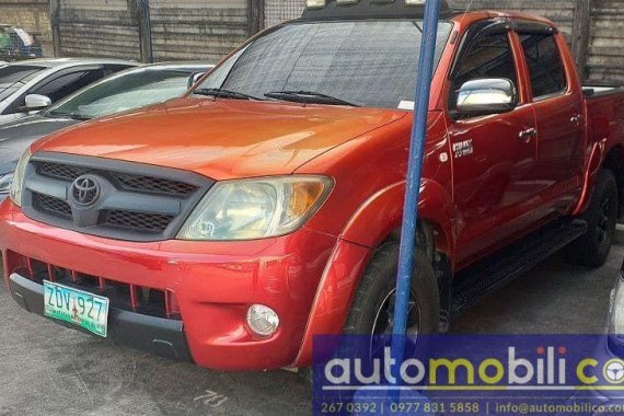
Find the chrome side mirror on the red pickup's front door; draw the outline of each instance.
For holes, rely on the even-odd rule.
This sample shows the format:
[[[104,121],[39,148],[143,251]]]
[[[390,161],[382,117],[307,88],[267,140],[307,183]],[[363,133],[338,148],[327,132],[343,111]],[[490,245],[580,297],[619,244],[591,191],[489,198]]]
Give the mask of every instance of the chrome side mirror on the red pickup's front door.
[[[518,105],[516,85],[508,79],[486,78],[467,81],[458,94],[457,112],[462,115],[508,113]]]

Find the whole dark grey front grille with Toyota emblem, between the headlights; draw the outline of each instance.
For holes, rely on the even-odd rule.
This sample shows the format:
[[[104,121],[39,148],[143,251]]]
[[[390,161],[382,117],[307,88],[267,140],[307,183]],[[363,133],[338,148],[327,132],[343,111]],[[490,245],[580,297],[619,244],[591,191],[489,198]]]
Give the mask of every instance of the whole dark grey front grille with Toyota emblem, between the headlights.
[[[22,209],[34,220],[84,234],[164,241],[175,239],[213,183],[175,169],[39,152],[24,176]]]

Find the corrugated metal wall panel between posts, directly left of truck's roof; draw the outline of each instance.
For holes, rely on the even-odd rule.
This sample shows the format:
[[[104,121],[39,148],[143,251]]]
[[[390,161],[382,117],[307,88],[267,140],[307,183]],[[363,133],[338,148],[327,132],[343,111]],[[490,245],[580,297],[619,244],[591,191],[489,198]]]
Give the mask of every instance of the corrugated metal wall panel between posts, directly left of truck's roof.
[[[216,61],[249,36],[247,0],[150,0],[155,60]]]

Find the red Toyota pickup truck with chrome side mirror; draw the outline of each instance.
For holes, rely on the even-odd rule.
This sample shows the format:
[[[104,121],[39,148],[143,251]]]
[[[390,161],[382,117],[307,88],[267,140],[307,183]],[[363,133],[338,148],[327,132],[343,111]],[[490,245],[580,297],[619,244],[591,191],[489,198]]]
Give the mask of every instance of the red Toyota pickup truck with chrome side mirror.
[[[327,1],[183,99],[33,145],[0,207],[13,298],[227,370],[307,367],[315,334],[392,331],[421,22],[403,0]],[[436,57],[419,333],[559,249],[602,265],[624,195],[624,92],[581,86],[553,23],[446,10]]]

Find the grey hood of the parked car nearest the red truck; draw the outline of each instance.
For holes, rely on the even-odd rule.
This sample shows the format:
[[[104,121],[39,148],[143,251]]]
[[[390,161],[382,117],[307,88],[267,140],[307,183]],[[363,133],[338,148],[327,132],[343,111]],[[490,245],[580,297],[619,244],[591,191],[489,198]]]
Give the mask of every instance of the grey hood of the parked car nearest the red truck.
[[[20,157],[33,142],[78,123],[81,122],[36,115],[0,126],[0,175],[13,172]]]

